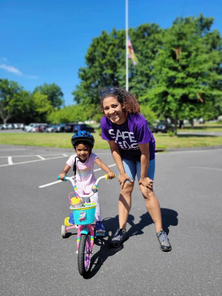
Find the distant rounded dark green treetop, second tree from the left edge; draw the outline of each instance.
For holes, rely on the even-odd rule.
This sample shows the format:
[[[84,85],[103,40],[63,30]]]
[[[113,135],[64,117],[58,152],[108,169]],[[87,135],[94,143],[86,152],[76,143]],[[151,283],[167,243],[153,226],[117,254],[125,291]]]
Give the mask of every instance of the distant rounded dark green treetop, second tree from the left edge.
[[[64,106],[64,94],[61,88],[55,83],[44,83],[44,85],[36,86],[33,93],[35,92],[40,92],[41,94],[46,95],[50,104],[54,108],[60,109],[62,106]]]

